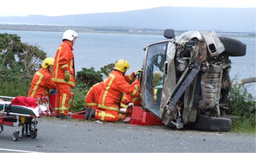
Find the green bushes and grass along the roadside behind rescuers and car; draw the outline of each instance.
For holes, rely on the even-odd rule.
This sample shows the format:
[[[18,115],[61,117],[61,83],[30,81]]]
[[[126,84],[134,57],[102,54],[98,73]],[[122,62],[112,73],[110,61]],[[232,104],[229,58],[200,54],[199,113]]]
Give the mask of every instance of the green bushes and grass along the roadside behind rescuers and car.
[[[47,54],[37,46],[20,42],[13,34],[0,34],[0,95],[8,97],[27,96],[34,73],[41,67]],[[93,67],[82,68],[77,72],[76,88],[72,88],[72,112],[84,108],[84,99],[95,83],[103,81],[113,70],[115,64],[104,65],[101,71]],[[237,85],[237,77],[227,99],[229,110],[226,114],[233,118],[234,133],[255,134],[255,97],[247,91],[248,85]]]

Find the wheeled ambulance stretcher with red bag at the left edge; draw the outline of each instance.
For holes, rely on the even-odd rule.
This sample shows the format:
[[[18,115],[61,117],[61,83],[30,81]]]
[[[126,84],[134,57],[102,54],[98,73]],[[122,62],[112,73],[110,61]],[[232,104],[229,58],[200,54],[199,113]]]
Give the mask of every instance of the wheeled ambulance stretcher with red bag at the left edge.
[[[0,96],[3,99],[15,99],[15,97]],[[44,102],[46,107],[42,106]],[[22,126],[22,133],[19,130],[13,132],[13,140],[19,138],[37,137],[37,118],[41,116],[50,116],[48,97],[40,97],[37,99],[38,106],[36,108],[26,107],[24,105],[13,105],[10,101],[0,100],[0,133],[3,126]]]

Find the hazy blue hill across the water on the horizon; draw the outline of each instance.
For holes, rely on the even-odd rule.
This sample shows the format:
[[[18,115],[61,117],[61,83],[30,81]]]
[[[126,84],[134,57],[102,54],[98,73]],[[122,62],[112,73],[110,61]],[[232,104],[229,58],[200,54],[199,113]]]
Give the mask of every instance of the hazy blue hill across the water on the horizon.
[[[256,8],[181,8],[166,6],[115,13],[9,16],[0,17],[0,23],[72,25],[99,27],[99,29],[102,29],[102,27],[119,27],[119,30],[122,29],[120,27],[132,27],[136,29],[150,28],[151,30],[173,28],[175,30],[255,32],[255,10]]]

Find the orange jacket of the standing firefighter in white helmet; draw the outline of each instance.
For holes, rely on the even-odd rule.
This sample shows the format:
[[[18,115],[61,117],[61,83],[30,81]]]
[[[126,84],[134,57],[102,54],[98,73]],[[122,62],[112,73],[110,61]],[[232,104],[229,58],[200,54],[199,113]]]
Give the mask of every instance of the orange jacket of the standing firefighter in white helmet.
[[[72,52],[72,45],[64,41],[59,46],[54,61],[54,73],[52,74],[52,81],[56,83],[65,83],[67,85],[76,86],[76,82],[74,80],[74,54]],[[71,79],[69,82],[64,80],[65,71],[69,71],[71,75]]]

